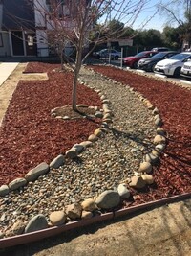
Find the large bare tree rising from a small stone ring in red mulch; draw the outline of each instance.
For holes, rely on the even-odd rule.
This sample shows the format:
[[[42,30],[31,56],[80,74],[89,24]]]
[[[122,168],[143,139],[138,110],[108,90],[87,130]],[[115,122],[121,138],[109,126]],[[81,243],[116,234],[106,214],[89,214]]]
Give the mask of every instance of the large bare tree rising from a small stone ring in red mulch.
[[[138,15],[147,9],[150,0],[33,0],[27,1],[34,12],[36,41],[44,37],[47,45],[53,45],[61,59],[74,71],[73,110],[76,111],[77,79],[81,65],[96,45],[121,36],[123,30],[109,29],[111,20],[132,27]],[[12,19],[17,18],[12,15]],[[150,20],[150,16],[141,27]],[[117,38],[116,38],[117,39]],[[90,49],[90,45],[93,45]],[[72,47],[75,58],[64,49]]]

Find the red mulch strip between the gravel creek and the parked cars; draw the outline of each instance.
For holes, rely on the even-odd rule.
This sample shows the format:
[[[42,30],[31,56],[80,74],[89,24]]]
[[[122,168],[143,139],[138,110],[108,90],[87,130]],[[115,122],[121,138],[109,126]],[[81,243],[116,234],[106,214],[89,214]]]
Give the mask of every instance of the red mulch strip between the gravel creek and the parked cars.
[[[154,169],[156,184],[138,195],[139,203],[191,192],[191,91],[106,66],[95,71],[128,84],[159,108],[168,132],[168,145]]]

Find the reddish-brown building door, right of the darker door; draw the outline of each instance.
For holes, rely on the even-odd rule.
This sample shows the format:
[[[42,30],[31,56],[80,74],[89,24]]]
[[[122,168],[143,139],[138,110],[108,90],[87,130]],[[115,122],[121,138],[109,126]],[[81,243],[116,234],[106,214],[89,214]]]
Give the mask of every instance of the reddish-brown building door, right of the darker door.
[[[25,35],[26,42],[26,54],[27,56],[36,56],[37,55],[37,47],[34,33],[28,33]]]

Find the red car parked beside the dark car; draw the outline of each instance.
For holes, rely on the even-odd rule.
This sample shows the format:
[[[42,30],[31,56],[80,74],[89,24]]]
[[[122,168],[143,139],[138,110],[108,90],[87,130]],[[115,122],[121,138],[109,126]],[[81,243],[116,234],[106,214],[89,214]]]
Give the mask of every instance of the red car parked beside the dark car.
[[[123,65],[131,67],[131,68],[137,68],[139,59],[150,58],[156,54],[158,54],[157,51],[144,51],[144,52],[138,53],[135,56],[125,57],[125,58],[123,58]]]

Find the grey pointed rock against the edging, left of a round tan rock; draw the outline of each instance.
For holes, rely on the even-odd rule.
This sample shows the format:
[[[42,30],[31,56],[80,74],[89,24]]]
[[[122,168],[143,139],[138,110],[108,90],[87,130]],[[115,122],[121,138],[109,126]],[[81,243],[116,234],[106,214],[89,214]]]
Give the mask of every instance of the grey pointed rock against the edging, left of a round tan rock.
[[[29,221],[25,228],[25,233],[34,232],[44,228],[48,228],[48,221],[44,215],[39,214],[34,216],[32,220]]]

